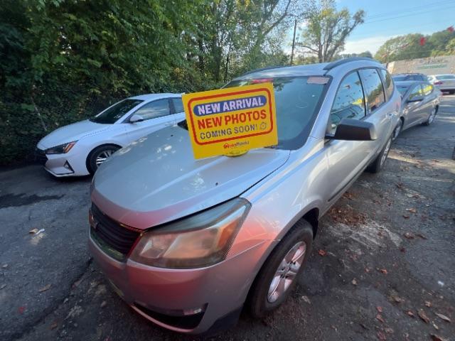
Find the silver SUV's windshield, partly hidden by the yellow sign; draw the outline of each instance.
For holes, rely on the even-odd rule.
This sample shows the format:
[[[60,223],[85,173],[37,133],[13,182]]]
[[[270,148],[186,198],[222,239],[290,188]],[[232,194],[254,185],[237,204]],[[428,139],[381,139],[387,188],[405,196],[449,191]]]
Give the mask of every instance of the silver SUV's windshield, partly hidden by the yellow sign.
[[[272,82],[277,104],[278,146],[296,149],[304,145],[319,109],[328,77],[277,77],[233,80],[225,87]]]

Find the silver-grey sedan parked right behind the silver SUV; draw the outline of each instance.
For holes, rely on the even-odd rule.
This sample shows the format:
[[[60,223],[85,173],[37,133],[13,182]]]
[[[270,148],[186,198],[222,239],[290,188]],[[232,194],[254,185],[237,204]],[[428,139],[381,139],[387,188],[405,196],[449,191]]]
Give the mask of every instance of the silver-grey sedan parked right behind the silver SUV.
[[[402,108],[394,139],[401,131],[417,124],[432,124],[439,109],[441,92],[429,82],[395,81],[395,86],[402,95]]]

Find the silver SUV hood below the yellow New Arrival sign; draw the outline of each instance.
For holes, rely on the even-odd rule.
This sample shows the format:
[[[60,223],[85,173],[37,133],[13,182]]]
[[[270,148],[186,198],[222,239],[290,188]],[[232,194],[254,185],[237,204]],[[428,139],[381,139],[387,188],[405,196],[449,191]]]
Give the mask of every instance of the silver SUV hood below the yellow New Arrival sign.
[[[262,148],[196,160],[188,131],[156,131],[98,168],[92,201],[118,222],[146,229],[237,197],[286,163],[290,151]]]

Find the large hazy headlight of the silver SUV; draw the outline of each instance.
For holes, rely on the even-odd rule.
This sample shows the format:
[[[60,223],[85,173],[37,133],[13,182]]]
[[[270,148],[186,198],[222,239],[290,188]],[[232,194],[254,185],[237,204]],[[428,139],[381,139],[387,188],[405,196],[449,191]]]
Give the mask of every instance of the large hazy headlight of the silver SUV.
[[[247,200],[236,198],[146,232],[131,259],[173,269],[198,268],[223,261],[250,206]]]

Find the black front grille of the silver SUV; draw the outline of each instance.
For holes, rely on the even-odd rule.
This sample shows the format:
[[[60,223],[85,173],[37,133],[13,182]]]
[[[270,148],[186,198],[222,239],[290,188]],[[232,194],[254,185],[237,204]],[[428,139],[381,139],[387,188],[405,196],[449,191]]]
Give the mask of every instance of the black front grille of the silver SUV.
[[[95,227],[91,228],[91,232],[96,239],[101,239],[100,244],[105,244],[108,248],[127,255],[139,237],[139,232],[123,227],[119,222],[107,217],[94,204],[92,204],[92,215]]]

